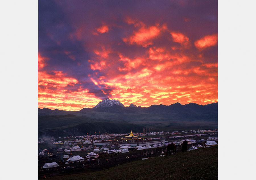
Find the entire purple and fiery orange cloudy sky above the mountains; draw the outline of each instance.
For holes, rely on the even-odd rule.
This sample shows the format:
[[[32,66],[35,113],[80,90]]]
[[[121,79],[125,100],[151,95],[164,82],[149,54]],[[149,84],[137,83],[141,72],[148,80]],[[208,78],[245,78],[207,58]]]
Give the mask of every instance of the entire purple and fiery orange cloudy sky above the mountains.
[[[38,107],[218,102],[218,1],[38,1]]]

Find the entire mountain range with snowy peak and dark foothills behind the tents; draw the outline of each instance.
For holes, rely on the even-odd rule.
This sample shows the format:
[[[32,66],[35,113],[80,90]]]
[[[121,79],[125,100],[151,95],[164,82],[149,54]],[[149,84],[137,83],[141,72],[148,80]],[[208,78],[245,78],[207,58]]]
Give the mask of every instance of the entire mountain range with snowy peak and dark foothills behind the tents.
[[[124,107],[118,100],[107,99],[99,102],[94,108],[83,108],[79,111],[38,108],[38,132],[42,135],[48,135],[50,132],[52,135],[53,131],[56,136],[64,135],[65,132],[67,135],[80,135],[89,129],[93,132],[125,133],[130,128],[142,132],[143,127],[159,131],[216,129],[218,103],[175,103],[149,107],[131,104]]]

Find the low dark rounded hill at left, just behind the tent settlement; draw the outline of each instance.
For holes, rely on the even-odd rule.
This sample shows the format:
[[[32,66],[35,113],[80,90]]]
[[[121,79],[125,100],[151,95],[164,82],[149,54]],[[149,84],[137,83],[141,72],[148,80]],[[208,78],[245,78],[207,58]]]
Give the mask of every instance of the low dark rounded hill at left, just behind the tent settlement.
[[[38,133],[48,136],[85,135],[92,131],[102,133],[122,133],[142,131],[143,126],[125,121],[92,119],[75,115],[43,115],[38,116]]]

